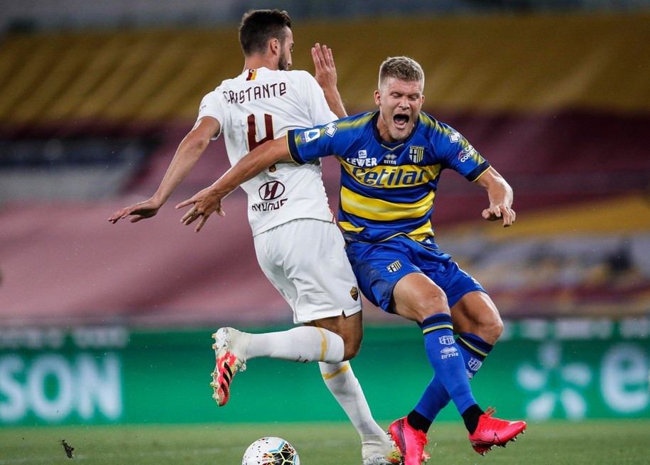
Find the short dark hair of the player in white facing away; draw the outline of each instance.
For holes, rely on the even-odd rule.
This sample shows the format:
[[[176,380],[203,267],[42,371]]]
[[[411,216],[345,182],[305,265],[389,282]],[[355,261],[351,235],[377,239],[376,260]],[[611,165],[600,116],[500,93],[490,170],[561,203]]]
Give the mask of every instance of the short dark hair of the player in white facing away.
[[[244,55],[264,53],[272,38],[284,43],[285,27],[291,28],[291,18],[286,11],[250,10],[245,13],[239,23],[239,43]]]

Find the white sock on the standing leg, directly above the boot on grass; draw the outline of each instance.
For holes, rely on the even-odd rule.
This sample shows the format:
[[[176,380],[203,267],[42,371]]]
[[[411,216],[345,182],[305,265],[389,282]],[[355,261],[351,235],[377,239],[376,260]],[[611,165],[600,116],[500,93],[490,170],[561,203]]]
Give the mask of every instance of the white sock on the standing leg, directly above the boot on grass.
[[[359,380],[354,376],[350,363],[318,363],[318,367],[327,389],[345,410],[362,441],[367,439],[367,442],[379,442],[387,446],[389,439],[386,432],[374,421],[366,396]]]

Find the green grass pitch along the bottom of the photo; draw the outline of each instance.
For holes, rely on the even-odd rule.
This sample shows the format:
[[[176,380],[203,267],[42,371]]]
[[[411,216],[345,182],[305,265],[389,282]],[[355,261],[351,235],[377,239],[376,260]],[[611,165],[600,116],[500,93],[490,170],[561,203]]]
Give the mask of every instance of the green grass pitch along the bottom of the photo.
[[[384,425],[386,426],[386,425]],[[347,423],[192,424],[114,427],[0,428],[0,465],[239,465],[261,436],[291,442],[303,465],[359,465],[359,439]],[[75,448],[68,459],[61,439]],[[441,422],[429,434],[431,465],[650,463],[650,420],[543,422],[507,449],[475,454],[461,424]]]

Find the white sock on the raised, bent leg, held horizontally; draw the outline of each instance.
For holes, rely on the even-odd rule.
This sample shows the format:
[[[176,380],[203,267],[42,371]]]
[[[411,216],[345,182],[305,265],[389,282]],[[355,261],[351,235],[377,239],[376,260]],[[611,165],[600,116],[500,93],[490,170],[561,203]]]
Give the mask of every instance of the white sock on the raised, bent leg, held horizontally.
[[[250,334],[244,360],[256,357],[280,358],[292,362],[338,363],[343,360],[343,339],[315,326],[298,326],[288,331]]]

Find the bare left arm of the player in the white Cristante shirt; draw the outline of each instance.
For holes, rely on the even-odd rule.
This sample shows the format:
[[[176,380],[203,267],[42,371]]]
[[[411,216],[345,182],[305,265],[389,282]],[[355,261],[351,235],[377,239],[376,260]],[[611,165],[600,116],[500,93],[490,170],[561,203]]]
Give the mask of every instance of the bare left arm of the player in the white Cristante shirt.
[[[219,132],[219,122],[212,117],[201,118],[180,142],[176,154],[169,164],[167,172],[158,186],[158,190],[146,201],[134,203],[129,207],[120,208],[113,213],[109,221],[113,224],[118,220],[131,217],[131,223],[144,218],[151,218],[158,213],[174,189],[183,181],[205,151],[210,138]]]

